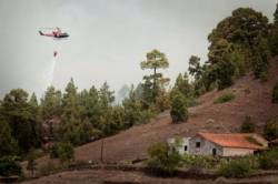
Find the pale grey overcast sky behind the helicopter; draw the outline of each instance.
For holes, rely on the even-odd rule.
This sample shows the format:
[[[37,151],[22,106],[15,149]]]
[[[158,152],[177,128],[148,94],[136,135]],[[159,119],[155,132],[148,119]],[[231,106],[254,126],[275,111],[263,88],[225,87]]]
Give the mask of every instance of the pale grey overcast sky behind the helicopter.
[[[79,90],[105,81],[111,90],[138,84],[146,53],[166,53],[173,82],[190,55],[206,61],[207,37],[239,7],[272,21],[276,0],[0,0],[0,96],[21,88],[41,96],[52,83],[63,90],[73,78]],[[70,37],[39,35],[59,27]],[[58,52],[53,65],[53,52]],[[53,70],[53,72],[51,72]],[[53,73],[53,74],[52,74]],[[50,82],[52,80],[52,82]]]

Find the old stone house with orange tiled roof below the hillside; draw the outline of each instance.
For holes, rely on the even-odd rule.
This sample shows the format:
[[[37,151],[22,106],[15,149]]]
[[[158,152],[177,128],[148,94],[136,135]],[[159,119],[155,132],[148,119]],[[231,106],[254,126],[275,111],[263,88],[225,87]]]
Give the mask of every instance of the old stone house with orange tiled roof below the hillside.
[[[198,133],[181,140],[177,147],[180,154],[244,156],[268,147],[268,142],[255,133]],[[171,142],[169,139],[168,143]]]

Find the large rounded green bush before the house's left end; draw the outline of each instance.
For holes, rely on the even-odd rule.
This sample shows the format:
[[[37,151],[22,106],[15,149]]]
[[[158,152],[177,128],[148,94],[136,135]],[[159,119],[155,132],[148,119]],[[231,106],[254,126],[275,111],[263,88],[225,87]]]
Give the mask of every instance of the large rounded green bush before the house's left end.
[[[146,164],[151,172],[168,176],[181,165],[181,155],[165,142],[153,143],[148,149],[149,159]]]

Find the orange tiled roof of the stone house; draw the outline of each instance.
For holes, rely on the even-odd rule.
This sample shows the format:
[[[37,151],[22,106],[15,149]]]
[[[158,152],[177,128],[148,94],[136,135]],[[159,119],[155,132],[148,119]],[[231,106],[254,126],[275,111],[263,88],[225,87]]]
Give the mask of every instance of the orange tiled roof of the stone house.
[[[229,133],[229,134],[217,134],[217,133],[199,133],[203,139],[224,146],[224,147],[237,147],[237,149],[251,149],[251,150],[265,150],[266,147],[256,144],[248,140],[251,137],[251,133]]]

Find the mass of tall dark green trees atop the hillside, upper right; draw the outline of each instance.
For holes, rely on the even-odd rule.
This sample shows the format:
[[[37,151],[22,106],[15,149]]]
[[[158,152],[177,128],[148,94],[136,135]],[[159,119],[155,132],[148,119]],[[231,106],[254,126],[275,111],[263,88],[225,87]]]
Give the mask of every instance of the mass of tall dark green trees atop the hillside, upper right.
[[[195,94],[230,86],[250,70],[256,79],[267,80],[268,59],[277,52],[277,39],[272,39],[277,32],[261,12],[250,8],[234,10],[209,34],[208,61],[201,65],[196,55],[189,60]]]

